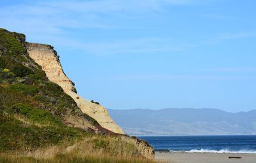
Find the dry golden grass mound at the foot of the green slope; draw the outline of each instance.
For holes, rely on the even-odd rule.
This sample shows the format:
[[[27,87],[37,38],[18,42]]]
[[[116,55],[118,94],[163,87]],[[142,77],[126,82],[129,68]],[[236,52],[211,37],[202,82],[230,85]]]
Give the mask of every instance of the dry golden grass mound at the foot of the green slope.
[[[93,136],[92,138],[65,141],[58,146],[40,148],[30,153],[0,153],[0,162],[63,163],[63,162],[154,162],[138,154],[136,146],[122,138]]]

